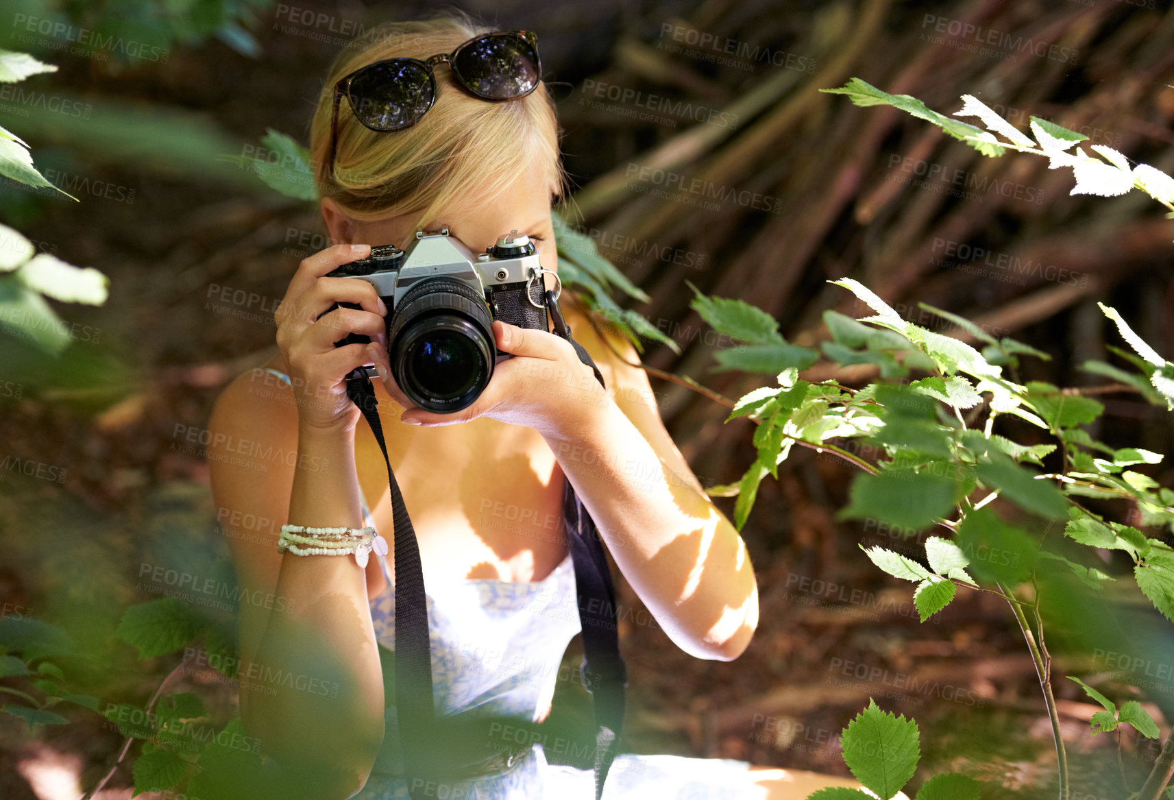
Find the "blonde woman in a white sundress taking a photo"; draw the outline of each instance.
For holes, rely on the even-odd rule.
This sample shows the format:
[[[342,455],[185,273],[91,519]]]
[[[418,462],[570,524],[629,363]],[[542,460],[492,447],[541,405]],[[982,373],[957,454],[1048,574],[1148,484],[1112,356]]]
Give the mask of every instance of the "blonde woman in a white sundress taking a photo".
[[[757,623],[744,544],[666,432],[645,372],[612,348],[632,363],[635,350],[610,335],[609,347],[569,293],[564,315],[606,390],[555,334],[494,322],[497,347],[513,357],[498,364],[472,405],[433,414],[413,406],[390,376],[387,309],[375,289],[324,277],[367,255],[371,244],[403,248],[417,230],[439,228],[473,253],[517,229],[556,274],[551,203],[564,186],[558,123],[525,46],[508,51],[511,40],[502,39],[508,52],[470,56],[475,63],[459,70],[464,88],[451,63],[433,59],[434,103],[421,103],[424,113],[413,119],[386,106],[364,107],[370,85],[380,81],[418,81],[411,89],[426,90],[403,65],[358,73],[349,96],[345,81],[335,90],[369,65],[424,61],[486,32],[456,16],[397,23],[369,32],[337,59],[318,100],[311,150],[323,217],[342,244],[302,262],[276,315],[279,354],[228,386],[212,414],[214,442],[249,438],[296,455],[264,470],[230,452],[209,453],[209,460],[218,517],[256,523],[225,526],[242,586],[283,600],[274,606],[282,611],[242,606],[242,677],[270,677],[242,680],[244,726],[274,761],[315,782],[316,796],[407,796],[397,778],[394,695],[385,687],[392,670],[380,661],[380,645],[384,660],[393,647],[391,556],[360,567],[351,558],[297,557],[276,546],[276,529],[285,523],[370,524],[392,538],[382,453],[345,394],[345,376],[363,364],[379,371],[391,466],[419,533],[438,714],[475,707],[533,721],[547,713],[559,659],[579,630],[560,524],[564,480],[682,650],[737,658]],[[527,81],[533,88],[490,101],[468,90],[477,80],[490,87],[483,94],[502,85],[521,94]],[[372,122],[396,129],[373,130]],[[340,302],[360,308],[318,318]],[[336,348],[345,332],[373,341]],[[285,673],[317,678],[324,691],[272,678]],[[541,747],[507,760],[498,749],[487,741],[487,758],[466,779],[427,793],[594,796],[591,771],[551,766]],[[652,786],[662,796],[798,799],[857,784],[740,761],[621,755],[605,796]]]

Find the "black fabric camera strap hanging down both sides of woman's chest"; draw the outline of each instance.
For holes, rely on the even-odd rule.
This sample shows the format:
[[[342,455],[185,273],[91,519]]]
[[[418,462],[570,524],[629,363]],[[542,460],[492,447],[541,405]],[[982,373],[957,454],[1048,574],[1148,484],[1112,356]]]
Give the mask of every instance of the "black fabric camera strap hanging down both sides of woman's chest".
[[[571,342],[579,359],[592,368],[600,385],[606,385],[603,376],[587,350],[571,338],[571,328],[564,321],[554,293],[549,289],[546,290],[546,301],[555,332]],[[433,735],[436,708],[420,550],[399,484],[391,470],[371,378],[365,372],[360,377],[348,378],[346,395],[366,418],[387,465],[394,520],[396,713],[409,795],[417,798],[421,796],[423,787],[426,786],[425,781],[417,778],[430,773],[431,769],[425,765],[434,765],[438,760],[433,749],[438,742]],[[575,495],[571,482],[566,479],[562,490],[562,513],[575,572],[575,593],[582,630],[583,663],[579,672],[595,707],[595,800],[600,800],[603,781],[607,780],[607,773],[619,752],[620,733],[623,730],[627,672],[620,656],[615,587],[602,540],[595,522]]]

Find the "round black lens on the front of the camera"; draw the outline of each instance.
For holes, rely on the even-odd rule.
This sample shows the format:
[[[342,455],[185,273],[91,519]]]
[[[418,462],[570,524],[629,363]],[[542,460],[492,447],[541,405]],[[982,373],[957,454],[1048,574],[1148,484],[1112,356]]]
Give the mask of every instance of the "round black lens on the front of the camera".
[[[429,411],[472,405],[493,375],[492,323],[484,297],[458,281],[432,278],[413,287],[389,327],[396,383]]]

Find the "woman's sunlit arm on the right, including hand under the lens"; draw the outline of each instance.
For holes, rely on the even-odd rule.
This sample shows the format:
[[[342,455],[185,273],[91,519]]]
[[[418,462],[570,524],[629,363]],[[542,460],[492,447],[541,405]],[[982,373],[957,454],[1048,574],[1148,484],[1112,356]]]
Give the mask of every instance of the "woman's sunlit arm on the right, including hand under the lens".
[[[754,569],[664,430],[643,370],[623,367],[601,343],[583,344],[610,372],[613,401],[566,340],[493,328],[514,358],[498,364],[477,402],[450,415],[411,409],[403,419],[451,425],[485,415],[538,430],[673,641],[697,658],[737,658],[758,621]]]

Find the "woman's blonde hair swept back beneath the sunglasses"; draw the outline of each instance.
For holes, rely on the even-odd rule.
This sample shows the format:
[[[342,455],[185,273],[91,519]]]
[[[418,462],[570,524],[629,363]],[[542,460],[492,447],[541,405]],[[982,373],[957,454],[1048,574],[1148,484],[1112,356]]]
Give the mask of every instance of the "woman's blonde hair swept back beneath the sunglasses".
[[[353,220],[416,214],[417,228],[457,203],[492,202],[532,168],[553,195],[562,195],[566,173],[559,157],[560,130],[546,86],[540,81],[525,98],[485,101],[457,86],[446,74],[447,66],[437,69],[432,108],[402,130],[370,130],[342,99],[335,174],[330,175],[335,83],[383,59],[424,61],[436,53],[451,53],[490,31],[461,12],[450,12],[382,25],[350,42],[330,67],[310,127],[319,195],[335,200]]]

